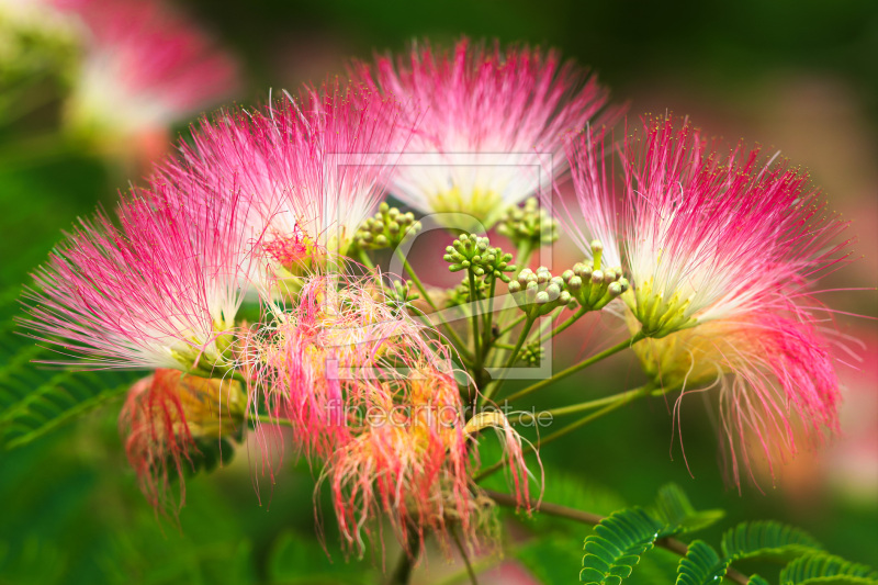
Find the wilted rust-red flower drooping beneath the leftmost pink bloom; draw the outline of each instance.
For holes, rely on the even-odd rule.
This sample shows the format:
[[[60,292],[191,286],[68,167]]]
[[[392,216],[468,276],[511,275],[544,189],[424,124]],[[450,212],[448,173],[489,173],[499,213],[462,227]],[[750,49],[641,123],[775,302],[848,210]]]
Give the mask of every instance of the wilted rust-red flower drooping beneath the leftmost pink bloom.
[[[183,473],[187,464],[193,465],[198,442],[240,436],[246,405],[247,396],[234,380],[209,380],[159,369],[134,384],[119,427],[128,462],[153,506],[168,503],[175,475],[179,480],[179,506],[184,504]]]

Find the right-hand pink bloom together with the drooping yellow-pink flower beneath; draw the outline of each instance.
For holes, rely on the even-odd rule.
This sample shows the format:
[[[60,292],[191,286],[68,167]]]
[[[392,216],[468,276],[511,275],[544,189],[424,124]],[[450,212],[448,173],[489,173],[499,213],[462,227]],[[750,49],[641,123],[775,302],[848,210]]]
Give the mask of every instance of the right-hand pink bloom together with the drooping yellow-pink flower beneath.
[[[846,224],[825,214],[807,177],[741,145],[721,156],[671,119],[627,138],[617,199],[603,138],[570,145],[583,223],[567,224],[586,255],[596,238],[609,262],[627,260],[629,328],[652,338],[634,346],[646,372],[684,394],[720,387],[734,481],[755,454],[786,459],[797,437],[835,430],[828,310],[812,290],[845,261],[848,243],[833,240]]]

